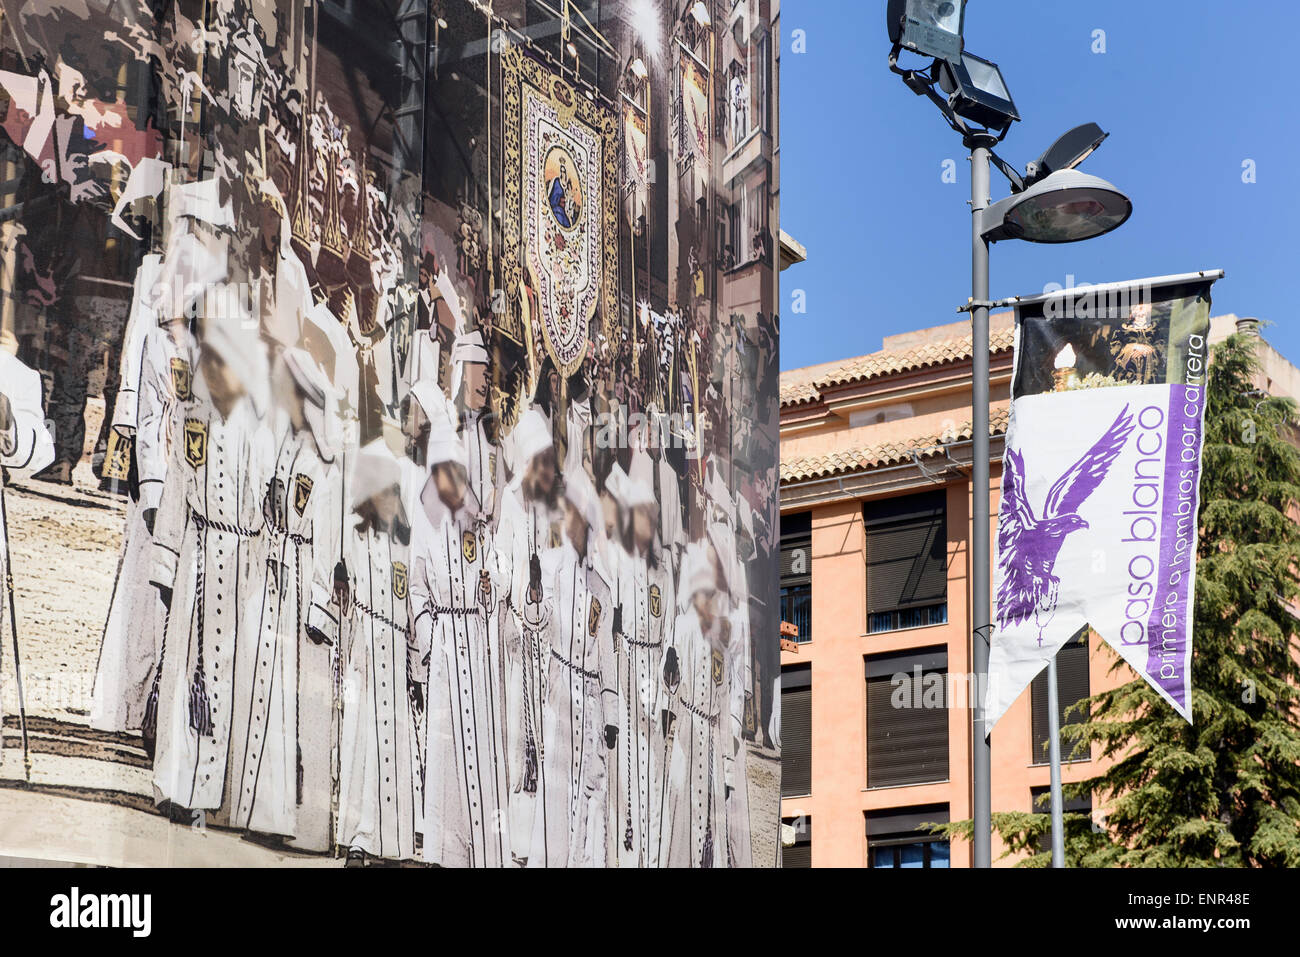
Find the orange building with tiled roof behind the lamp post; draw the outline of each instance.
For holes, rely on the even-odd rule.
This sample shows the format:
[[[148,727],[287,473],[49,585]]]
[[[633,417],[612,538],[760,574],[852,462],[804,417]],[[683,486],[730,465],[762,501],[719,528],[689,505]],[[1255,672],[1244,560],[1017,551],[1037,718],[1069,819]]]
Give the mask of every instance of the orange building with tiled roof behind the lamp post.
[[[1212,320],[1210,341],[1238,322]],[[971,817],[970,326],[883,345],[781,373],[781,618],[798,629],[781,651],[788,867],[971,863],[967,841],[922,827]],[[1011,345],[1011,313],[993,316],[994,525]],[[1300,395],[1300,371],[1271,347],[1261,355],[1261,387]],[[1096,635],[1062,649],[1062,711],[1128,680],[1108,674],[1113,661]],[[993,733],[994,811],[1045,811],[1046,726],[1040,675]],[[1096,774],[1089,754],[1066,752],[1063,781]],[[994,836],[994,863],[1010,863],[1001,853]]]

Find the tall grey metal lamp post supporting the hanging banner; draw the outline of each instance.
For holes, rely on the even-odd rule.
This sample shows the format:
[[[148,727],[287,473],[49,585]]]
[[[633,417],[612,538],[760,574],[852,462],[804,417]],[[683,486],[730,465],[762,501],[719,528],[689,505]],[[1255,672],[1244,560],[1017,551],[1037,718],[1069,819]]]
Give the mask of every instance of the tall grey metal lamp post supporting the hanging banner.
[[[971,148],[971,817],[975,822],[974,866],[992,866],[992,775],[989,740],[984,735],[984,690],[988,684],[989,515],[988,515],[988,242],[982,235],[989,204],[992,137],[972,137]]]

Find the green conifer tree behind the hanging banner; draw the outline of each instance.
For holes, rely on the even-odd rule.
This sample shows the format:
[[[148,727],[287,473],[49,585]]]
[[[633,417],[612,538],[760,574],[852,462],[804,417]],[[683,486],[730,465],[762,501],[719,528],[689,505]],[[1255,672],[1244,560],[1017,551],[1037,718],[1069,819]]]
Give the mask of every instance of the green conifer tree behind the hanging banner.
[[[1231,335],[1209,367],[1193,723],[1136,676],[1079,703],[1062,752],[1087,741],[1114,763],[1065,787],[1109,805],[1097,828],[1066,815],[1070,866],[1300,866],[1300,433],[1296,403],[1256,387],[1258,342]],[[1046,866],[1049,815],[993,818],[1009,853]],[[942,830],[968,837],[971,822]]]

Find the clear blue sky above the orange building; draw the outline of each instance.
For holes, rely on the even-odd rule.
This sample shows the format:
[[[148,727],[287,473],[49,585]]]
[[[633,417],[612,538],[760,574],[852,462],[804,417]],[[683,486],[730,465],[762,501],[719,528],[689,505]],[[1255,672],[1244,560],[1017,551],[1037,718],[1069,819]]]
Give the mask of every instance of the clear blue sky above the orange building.
[[[884,8],[781,4],[781,228],[809,251],[781,276],[783,369],[957,321],[970,296],[970,164],[933,104],[889,73]],[[798,30],[803,53],[792,48]],[[1105,53],[1092,52],[1096,30]],[[966,48],[1002,68],[1023,117],[998,155],[1023,170],[1093,121],[1110,139],[1082,169],[1134,199],[1132,218],[1098,239],[997,243],[993,298],[1069,276],[1222,268],[1214,315],[1274,322],[1265,337],[1300,364],[1297,36],[1300,4],[1283,0],[971,0]],[[949,159],[956,183],[942,182]],[[1247,160],[1253,183],[1243,182]],[[993,199],[1008,192],[994,170]]]

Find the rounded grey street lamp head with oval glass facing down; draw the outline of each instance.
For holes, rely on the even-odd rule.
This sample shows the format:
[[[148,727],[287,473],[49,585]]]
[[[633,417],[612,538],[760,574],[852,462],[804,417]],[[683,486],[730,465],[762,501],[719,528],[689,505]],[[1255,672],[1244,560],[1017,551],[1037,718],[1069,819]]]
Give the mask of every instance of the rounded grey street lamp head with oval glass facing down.
[[[1076,169],[1062,169],[984,212],[989,242],[1074,243],[1117,229],[1134,204],[1118,187]]]

